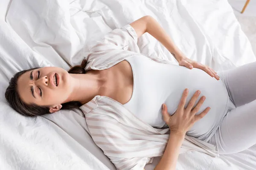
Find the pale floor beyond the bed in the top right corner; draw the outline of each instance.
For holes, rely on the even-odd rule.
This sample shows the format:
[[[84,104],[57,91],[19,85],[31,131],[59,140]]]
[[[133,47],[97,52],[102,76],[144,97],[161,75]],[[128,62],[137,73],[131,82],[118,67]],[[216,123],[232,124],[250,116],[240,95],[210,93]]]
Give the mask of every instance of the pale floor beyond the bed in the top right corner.
[[[233,8],[234,14],[239,21],[242,30],[248,37],[253,52],[256,55],[256,0],[250,0],[244,13],[241,14],[241,10],[244,7],[246,0],[228,0]]]

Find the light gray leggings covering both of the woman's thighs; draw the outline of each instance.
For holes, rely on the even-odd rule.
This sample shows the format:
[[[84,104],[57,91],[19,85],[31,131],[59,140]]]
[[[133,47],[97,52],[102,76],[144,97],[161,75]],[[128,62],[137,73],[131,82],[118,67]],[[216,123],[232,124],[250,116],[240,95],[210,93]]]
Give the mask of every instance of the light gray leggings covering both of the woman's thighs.
[[[238,153],[256,144],[256,62],[217,71],[234,106],[208,141],[219,154]]]

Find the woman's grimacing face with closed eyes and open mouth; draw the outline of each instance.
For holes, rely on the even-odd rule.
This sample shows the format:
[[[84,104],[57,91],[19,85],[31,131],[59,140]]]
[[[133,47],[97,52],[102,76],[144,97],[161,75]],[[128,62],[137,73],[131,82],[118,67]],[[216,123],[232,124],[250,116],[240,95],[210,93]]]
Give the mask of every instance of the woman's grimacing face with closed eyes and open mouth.
[[[49,106],[54,108],[50,112],[55,112],[71,94],[70,78],[70,74],[63,68],[38,68],[27,71],[18,78],[17,90],[26,104]]]

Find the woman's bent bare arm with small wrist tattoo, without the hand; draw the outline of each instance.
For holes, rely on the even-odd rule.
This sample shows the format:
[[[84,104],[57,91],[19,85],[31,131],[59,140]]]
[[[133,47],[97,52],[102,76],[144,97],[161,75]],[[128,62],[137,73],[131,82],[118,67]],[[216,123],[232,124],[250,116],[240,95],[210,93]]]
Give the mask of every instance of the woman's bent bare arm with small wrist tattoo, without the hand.
[[[155,39],[160,41],[177,61],[182,59],[184,54],[174,44],[169,35],[164,31],[160,24],[151,16],[141,17],[139,20],[130,24],[137,33],[138,38],[145,32],[151,34]]]

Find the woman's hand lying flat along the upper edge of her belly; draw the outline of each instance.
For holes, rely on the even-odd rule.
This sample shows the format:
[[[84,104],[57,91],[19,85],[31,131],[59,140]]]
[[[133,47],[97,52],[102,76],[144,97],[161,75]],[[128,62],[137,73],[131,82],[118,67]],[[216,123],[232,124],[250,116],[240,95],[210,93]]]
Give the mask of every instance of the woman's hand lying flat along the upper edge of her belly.
[[[217,80],[220,79],[220,77],[218,77],[217,73],[212,68],[209,68],[207,65],[203,65],[203,64],[193,61],[192,59],[189,59],[187,57],[181,57],[181,59],[179,59],[177,61],[179,62],[179,65],[181,65],[181,66],[184,66],[189,69],[199,68],[201,70],[204,70],[211,77],[215,77],[215,79],[217,79]]]

